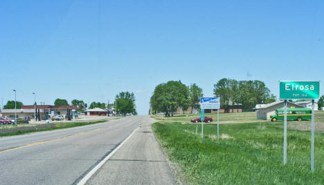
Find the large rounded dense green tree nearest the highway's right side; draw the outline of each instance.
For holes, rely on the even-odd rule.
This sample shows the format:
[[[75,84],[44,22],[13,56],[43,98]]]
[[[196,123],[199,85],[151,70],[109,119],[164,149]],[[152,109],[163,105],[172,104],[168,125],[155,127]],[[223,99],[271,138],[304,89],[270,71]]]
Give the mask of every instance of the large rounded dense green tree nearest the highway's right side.
[[[154,89],[150,104],[153,110],[163,112],[168,117],[173,116],[179,107],[183,110],[188,109],[190,104],[188,87],[181,81],[168,81],[166,84],[159,84]]]

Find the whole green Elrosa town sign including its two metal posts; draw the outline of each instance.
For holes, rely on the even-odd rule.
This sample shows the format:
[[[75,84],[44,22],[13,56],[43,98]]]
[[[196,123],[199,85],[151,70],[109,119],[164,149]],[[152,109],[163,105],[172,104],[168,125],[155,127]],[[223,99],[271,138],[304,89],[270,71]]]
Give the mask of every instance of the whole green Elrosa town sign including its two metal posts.
[[[314,171],[314,133],[315,113],[314,99],[319,99],[319,81],[279,81],[280,99],[285,99],[284,119],[284,156],[283,163],[287,163],[287,99],[312,99],[312,146],[311,146],[311,171]]]

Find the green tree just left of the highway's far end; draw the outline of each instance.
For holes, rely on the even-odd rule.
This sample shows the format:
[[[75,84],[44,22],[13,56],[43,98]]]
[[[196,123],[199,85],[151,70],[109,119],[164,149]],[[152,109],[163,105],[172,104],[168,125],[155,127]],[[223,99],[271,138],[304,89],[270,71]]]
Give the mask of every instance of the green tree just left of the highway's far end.
[[[135,106],[135,96],[134,93],[120,92],[116,95],[116,100],[114,102],[115,110],[121,114],[132,113],[136,115],[136,106]],[[117,108],[116,108],[117,106]]]

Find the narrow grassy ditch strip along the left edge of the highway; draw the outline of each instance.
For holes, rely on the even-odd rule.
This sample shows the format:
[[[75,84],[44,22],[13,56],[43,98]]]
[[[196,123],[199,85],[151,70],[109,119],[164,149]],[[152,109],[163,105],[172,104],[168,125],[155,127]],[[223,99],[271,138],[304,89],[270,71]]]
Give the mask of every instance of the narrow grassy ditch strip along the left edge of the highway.
[[[19,126],[11,128],[1,128],[0,137],[12,136],[12,135],[24,135],[26,133],[42,132],[47,130],[56,130],[61,128],[71,128],[75,126],[84,126],[89,124],[98,124],[108,120],[99,121],[75,121],[75,122],[61,122],[55,124],[39,124],[35,126]]]

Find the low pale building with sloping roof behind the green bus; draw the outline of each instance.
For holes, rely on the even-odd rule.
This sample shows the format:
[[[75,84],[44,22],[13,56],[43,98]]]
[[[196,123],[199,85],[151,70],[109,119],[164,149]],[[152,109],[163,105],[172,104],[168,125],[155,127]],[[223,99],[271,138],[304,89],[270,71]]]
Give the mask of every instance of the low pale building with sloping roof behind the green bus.
[[[270,119],[271,115],[276,114],[278,108],[284,108],[284,101],[274,101],[271,104],[265,104],[257,110],[257,119]],[[303,108],[303,106],[287,101],[287,108]]]

